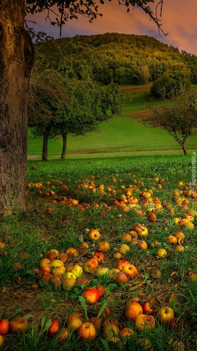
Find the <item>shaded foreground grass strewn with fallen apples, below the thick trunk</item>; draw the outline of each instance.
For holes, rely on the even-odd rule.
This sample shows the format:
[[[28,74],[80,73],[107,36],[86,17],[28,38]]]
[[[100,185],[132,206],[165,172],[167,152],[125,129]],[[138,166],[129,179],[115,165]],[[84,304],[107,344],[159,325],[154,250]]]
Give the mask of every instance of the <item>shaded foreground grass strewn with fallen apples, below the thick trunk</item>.
[[[160,179],[161,188],[157,187],[158,179],[154,179],[155,177]],[[61,188],[60,179],[68,186],[66,190]],[[195,216],[193,231],[186,227],[181,229],[185,239],[179,243],[184,246],[184,251],[176,253],[174,246],[166,240],[168,236],[179,230],[174,223],[175,217],[180,218],[191,209],[196,211],[197,203],[187,196],[183,199],[186,200],[188,208],[180,207],[173,201],[173,191],[178,188],[178,181],[183,181],[185,185],[190,180],[191,156],[183,157],[178,153],[176,156],[172,154],[151,157],[97,155],[92,158],[81,157],[81,159],[54,158],[45,164],[40,160],[30,160],[28,181],[33,183],[41,181],[42,187],[28,188],[26,214],[11,216],[0,221],[0,239],[6,245],[0,255],[0,317],[7,318],[10,322],[14,317],[29,315],[27,316],[29,326],[20,335],[14,333],[6,335],[2,349],[8,351],[144,351],[150,349],[195,351],[197,280],[190,280],[190,274],[197,273]],[[82,181],[87,184],[93,181],[97,191],[91,192],[91,188],[84,185],[76,189],[76,185],[84,184]],[[104,185],[102,191],[99,191],[100,184]],[[140,213],[134,211],[137,207],[130,207],[131,210],[125,212],[123,211],[125,207],[112,205],[113,199],[118,200],[120,195],[125,193],[123,186],[127,187],[128,184],[133,185],[130,197],[138,200],[137,206],[138,210],[142,211],[142,217],[139,217]],[[108,192],[107,186],[113,186],[114,194],[111,191]],[[179,187],[179,189],[182,188],[183,186]],[[144,207],[142,203],[144,198],[140,197],[141,192],[146,192],[148,189],[153,192],[153,200],[155,198],[161,202],[165,200],[174,210],[169,212],[170,205],[168,205],[163,207],[161,212],[157,212],[155,207],[153,210],[157,218],[155,223],[148,221],[146,211],[149,205],[146,203]],[[46,191],[54,191],[55,194],[45,198],[43,193]],[[52,204],[53,199],[61,200],[61,196],[66,196],[69,201]],[[85,207],[70,206],[71,199],[77,199],[79,204],[89,204],[90,207],[83,210],[85,205],[83,205]],[[99,208],[95,208],[93,205],[95,203],[99,204]],[[47,208],[52,208],[51,214],[47,214]],[[102,216],[101,210],[104,211]],[[117,285],[107,275],[98,278],[94,272],[83,272],[83,277],[88,279],[91,287],[100,284],[106,291],[98,303],[86,305],[81,299],[81,293],[87,285],[74,285],[73,290],[63,289],[62,286],[55,288],[50,283],[43,284],[43,281],[36,277],[38,270],[35,269],[38,269],[40,260],[51,249],[66,252],[69,247],[77,249],[84,241],[89,246],[87,251],[80,256],[70,257],[68,263],[74,261],[82,265],[84,260],[92,258],[97,251],[98,241],[93,242],[88,239],[88,232],[91,229],[100,232],[99,242],[107,241],[110,245],[110,250],[103,252],[105,258],[100,266],[113,269],[117,264],[114,253],[120,249],[121,244],[127,243],[123,239],[123,234],[133,231],[137,223],[143,224],[148,229],[147,237],[142,237],[148,249],[141,250],[130,243],[124,256],[124,259],[137,268],[135,279]],[[140,237],[139,240],[141,240]],[[165,249],[167,256],[158,259],[158,249]],[[133,298],[141,304],[148,299],[154,300],[152,316],[155,318],[155,327],[149,329],[147,326],[139,332],[136,331],[133,320],[125,319],[126,304]],[[98,313],[95,311],[99,303],[101,307]],[[106,320],[111,323],[111,328],[114,318],[119,324],[118,329],[113,326],[116,335],[110,334],[110,337],[103,335],[102,325],[96,331],[96,337],[92,342],[89,340],[80,342],[77,333],[73,331],[70,331],[68,339],[63,343],[57,342],[56,335],[48,337],[47,330],[52,323],[51,320],[57,320],[61,328],[67,327],[66,318],[73,311],[82,314],[82,322],[99,316],[102,324],[107,324],[103,318],[103,311],[107,305],[111,313]],[[157,314],[162,306],[168,306],[173,310],[174,317],[178,318],[178,329],[177,327],[170,329],[169,323],[159,324]],[[130,339],[122,338],[120,331],[123,328],[134,331]],[[109,340],[113,337],[115,337],[115,343]],[[144,346],[145,340],[149,340],[148,346]]]

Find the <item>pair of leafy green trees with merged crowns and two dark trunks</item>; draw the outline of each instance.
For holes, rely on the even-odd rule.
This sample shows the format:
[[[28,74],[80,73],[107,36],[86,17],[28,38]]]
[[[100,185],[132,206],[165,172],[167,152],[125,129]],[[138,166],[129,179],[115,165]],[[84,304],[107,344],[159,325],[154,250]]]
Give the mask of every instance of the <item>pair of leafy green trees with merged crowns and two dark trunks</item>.
[[[92,76],[96,52],[77,37],[67,44],[49,42],[36,47],[30,80],[29,126],[35,138],[43,138],[42,161],[48,159],[48,139],[67,134],[84,135],[97,131],[99,124],[120,114],[119,88],[111,83],[101,88]],[[53,57],[53,60],[52,60]]]

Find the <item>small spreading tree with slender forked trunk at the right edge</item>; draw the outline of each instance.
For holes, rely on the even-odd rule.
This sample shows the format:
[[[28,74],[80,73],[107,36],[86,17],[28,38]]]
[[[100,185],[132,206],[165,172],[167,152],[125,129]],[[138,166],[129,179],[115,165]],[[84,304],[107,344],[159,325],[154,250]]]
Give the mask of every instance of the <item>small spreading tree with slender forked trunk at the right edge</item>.
[[[165,90],[161,95],[165,100],[164,105],[151,107],[151,114],[143,122],[167,131],[181,145],[184,155],[187,155],[186,141],[197,134],[197,94],[181,87],[179,94],[171,92],[171,99],[166,98]]]

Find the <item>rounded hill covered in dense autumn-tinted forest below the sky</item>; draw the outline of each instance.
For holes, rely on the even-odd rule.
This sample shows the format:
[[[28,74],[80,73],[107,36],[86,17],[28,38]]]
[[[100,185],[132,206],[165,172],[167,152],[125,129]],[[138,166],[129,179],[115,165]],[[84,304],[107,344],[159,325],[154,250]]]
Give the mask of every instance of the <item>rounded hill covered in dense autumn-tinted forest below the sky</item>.
[[[94,78],[101,84],[147,84],[162,77],[176,62],[183,62],[191,71],[191,83],[197,84],[197,58],[177,47],[168,46],[148,35],[105,33],[79,35],[83,42],[98,51],[93,68]],[[75,38],[75,37],[74,37]],[[70,38],[57,39],[68,41]]]

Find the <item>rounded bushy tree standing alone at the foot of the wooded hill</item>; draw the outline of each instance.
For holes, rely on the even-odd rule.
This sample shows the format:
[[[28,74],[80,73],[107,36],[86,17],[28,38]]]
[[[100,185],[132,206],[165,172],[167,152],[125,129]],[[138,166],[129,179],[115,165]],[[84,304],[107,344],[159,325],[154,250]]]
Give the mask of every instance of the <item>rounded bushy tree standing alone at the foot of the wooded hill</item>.
[[[163,77],[158,78],[151,86],[151,93],[161,97],[161,92],[165,90],[167,96],[184,86],[186,90],[191,86],[190,69],[183,63],[176,63],[164,72]]]

